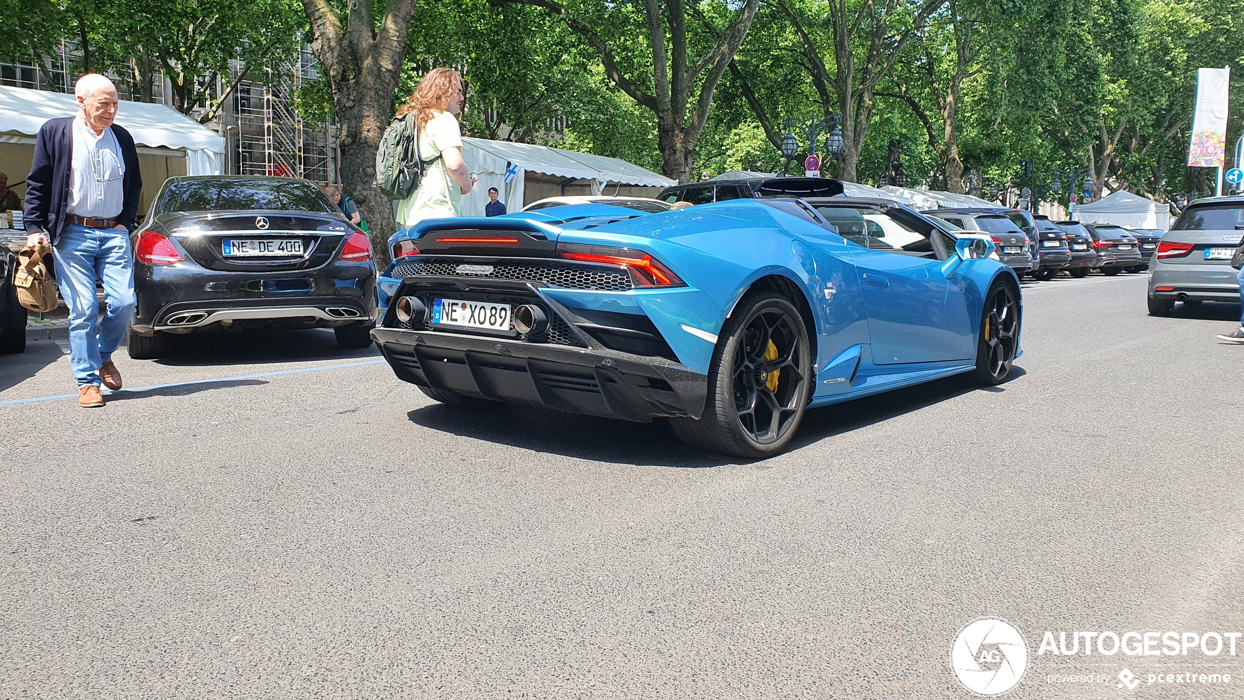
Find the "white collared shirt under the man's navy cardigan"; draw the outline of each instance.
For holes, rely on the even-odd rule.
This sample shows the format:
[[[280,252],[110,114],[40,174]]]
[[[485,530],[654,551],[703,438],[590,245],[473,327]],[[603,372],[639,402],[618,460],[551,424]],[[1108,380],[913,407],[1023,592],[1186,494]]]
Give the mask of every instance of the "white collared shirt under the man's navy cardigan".
[[[114,219],[126,201],[126,160],[111,128],[102,134],[73,119],[73,163],[70,168],[68,213],[91,219]]]

